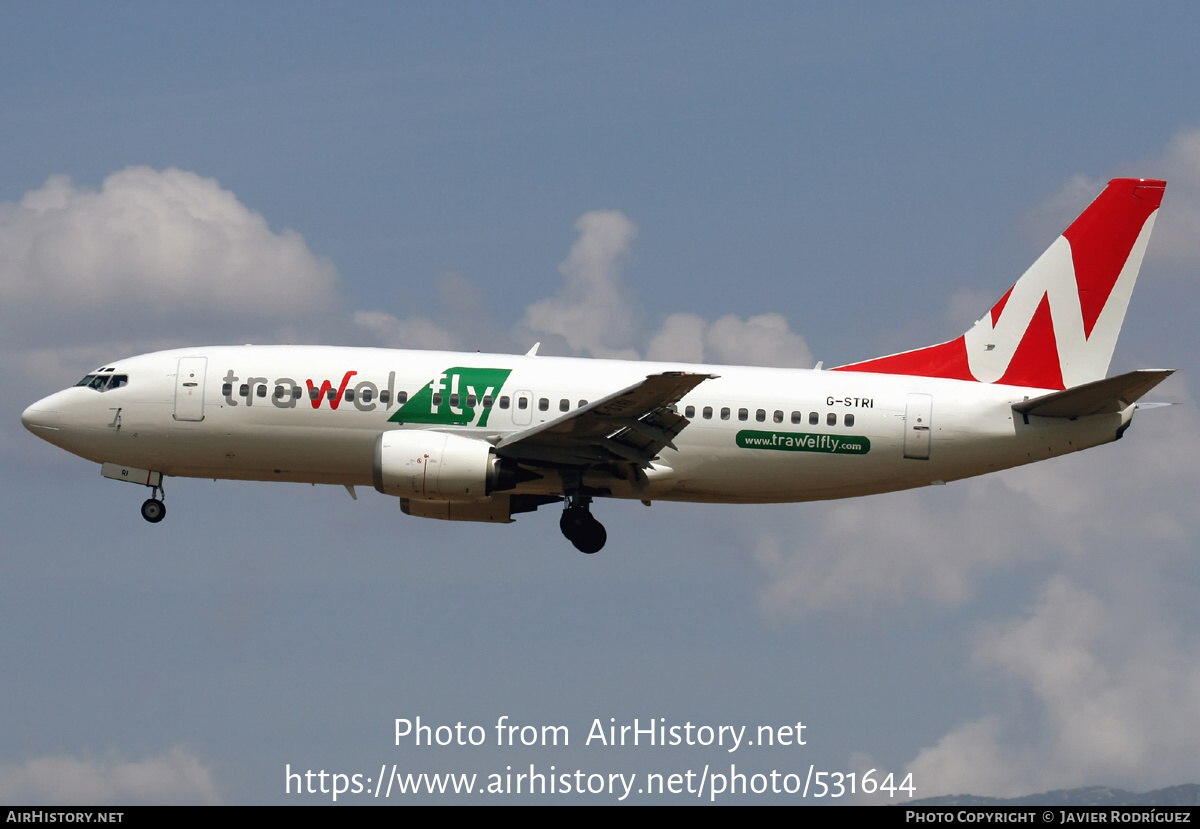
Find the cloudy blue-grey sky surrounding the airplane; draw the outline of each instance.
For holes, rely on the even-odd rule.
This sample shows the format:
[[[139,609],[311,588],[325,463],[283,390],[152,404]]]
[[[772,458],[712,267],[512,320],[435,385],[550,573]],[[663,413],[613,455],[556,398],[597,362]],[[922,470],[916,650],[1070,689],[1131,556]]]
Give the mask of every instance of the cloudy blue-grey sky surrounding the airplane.
[[[328,799],[286,795],[287,764],[732,758],[912,771],[918,795],[1200,779],[1192,6],[0,19],[0,799]],[[604,504],[592,558],[553,511],[442,524],[332,487],[173,480],[150,527],[139,493],[18,421],[176,344],[646,356],[690,325],[714,361],[866,359],[962,331],[1114,175],[1170,181],[1114,371],[1178,368],[1178,406],[936,491]],[[55,199],[61,221],[29,220]],[[214,228],[233,242],[205,246]],[[607,247],[571,259],[590,234]],[[538,307],[607,334],[572,342]],[[564,723],[572,745],[394,745],[418,715]],[[809,743],[583,746],[596,717],[803,720]]]

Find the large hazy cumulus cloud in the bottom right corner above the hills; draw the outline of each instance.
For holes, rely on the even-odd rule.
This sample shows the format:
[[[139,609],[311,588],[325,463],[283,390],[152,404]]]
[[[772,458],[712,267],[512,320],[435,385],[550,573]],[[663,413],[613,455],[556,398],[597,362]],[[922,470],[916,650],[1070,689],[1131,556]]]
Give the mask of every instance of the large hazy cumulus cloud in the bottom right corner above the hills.
[[[1195,780],[1200,641],[1150,615],[1051,578],[1030,613],[992,627],[973,654],[982,671],[1032,695],[1038,722],[1004,710],[954,728],[908,767],[925,795]]]

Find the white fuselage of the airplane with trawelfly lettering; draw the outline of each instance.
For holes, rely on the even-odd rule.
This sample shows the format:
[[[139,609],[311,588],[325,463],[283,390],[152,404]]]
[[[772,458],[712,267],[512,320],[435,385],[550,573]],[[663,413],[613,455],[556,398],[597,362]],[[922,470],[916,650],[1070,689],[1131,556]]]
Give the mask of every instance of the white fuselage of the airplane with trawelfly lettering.
[[[460,367],[463,377],[504,370],[503,384],[457,388],[450,370]],[[310,346],[160,352],[106,371],[127,383],[56,392],[24,422],[100,463],[348,486],[372,483],[386,429],[436,428],[494,445],[652,373],[716,376],[677,404],[690,422],[646,470],[643,488],[584,473],[588,487],[644,500],[800,501],[925,486],[1108,443],[1134,410],[1025,417],[1012,406],[1046,390],[900,374]],[[440,400],[431,398],[424,422],[389,420],[431,384]],[[468,394],[474,414],[463,422]],[[553,469],[512,489],[563,491]]]

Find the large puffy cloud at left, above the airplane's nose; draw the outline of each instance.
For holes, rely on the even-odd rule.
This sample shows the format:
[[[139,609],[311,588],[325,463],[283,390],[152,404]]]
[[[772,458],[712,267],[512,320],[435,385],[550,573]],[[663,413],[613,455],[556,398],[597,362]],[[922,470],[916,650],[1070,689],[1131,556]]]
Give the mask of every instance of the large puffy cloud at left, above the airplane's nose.
[[[286,316],[334,296],[334,266],[214,179],[130,167],[100,191],[52,176],[0,204],[0,299]]]

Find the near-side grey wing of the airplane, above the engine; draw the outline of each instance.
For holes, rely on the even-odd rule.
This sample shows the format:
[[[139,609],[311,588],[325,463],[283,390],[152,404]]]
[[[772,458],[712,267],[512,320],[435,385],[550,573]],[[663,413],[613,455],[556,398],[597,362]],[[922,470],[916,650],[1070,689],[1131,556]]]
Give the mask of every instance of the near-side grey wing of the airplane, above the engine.
[[[530,463],[632,463],[644,469],[688,419],[672,410],[715,374],[662,372],[554,420],[505,437],[497,455]]]

